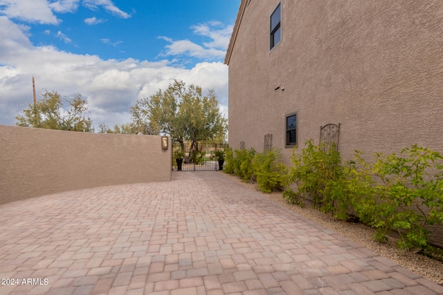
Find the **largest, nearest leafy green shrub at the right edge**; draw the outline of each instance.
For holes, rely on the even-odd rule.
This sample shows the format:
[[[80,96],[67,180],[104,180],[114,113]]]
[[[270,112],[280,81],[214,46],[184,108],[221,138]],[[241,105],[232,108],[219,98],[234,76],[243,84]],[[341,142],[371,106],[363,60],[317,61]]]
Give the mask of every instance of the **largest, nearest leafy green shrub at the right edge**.
[[[377,240],[385,240],[386,233],[395,230],[399,248],[428,247],[426,225],[443,223],[442,160],[440,153],[417,145],[400,155],[375,153],[372,164],[356,153],[350,163],[354,210],[377,229]]]

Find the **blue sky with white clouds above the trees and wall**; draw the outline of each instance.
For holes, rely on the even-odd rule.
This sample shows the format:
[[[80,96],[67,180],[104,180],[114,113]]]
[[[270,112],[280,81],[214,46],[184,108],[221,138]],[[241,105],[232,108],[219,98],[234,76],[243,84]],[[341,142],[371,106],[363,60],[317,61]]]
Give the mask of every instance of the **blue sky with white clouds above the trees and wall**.
[[[227,117],[224,55],[240,0],[0,0],[0,124],[37,95],[82,94],[93,124],[183,79],[214,88]]]

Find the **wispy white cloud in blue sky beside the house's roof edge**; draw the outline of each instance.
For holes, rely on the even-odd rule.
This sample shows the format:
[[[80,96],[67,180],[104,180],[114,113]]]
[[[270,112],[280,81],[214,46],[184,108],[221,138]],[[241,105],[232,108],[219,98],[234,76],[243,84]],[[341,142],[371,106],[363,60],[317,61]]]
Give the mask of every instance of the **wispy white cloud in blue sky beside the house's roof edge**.
[[[201,23],[191,27],[196,35],[208,37],[210,42],[205,42],[201,46],[194,42],[186,40],[173,40],[169,37],[159,37],[168,41],[170,44],[165,46],[161,56],[190,56],[200,59],[222,59],[226,53],[229,44],[232,26],[225,27],[218,21]]]

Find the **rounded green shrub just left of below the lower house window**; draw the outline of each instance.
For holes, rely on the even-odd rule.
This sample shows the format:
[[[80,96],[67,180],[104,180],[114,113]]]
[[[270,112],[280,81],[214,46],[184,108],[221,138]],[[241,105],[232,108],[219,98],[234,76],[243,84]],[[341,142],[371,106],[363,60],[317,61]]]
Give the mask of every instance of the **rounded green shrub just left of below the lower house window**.
[[[275,187],[283,184],[287,169],[280,162],[280,158],[281,153],[276,149],[254,155],[252,169],[261,191],[271,193]]]

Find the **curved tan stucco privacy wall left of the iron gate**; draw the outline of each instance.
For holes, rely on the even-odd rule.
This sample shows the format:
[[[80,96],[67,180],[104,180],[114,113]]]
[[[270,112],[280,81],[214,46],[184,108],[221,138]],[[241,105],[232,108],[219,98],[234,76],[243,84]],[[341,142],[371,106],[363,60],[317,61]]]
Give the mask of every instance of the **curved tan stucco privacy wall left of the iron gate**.
[[[170,139],[169,139],[170,140]],[[171,180],[171,142],[0,125],[0,204],[48,193]]]

